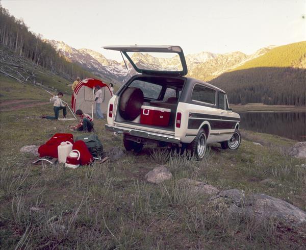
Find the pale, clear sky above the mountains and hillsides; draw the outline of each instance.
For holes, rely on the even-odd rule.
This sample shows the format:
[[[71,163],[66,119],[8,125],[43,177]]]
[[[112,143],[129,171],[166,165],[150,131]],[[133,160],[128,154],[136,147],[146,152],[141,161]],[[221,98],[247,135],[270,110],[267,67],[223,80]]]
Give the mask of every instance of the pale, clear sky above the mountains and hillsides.
[[[0,0],[30,30],[121,61],[104,45],[252,54],[306,40],[306,0]]]

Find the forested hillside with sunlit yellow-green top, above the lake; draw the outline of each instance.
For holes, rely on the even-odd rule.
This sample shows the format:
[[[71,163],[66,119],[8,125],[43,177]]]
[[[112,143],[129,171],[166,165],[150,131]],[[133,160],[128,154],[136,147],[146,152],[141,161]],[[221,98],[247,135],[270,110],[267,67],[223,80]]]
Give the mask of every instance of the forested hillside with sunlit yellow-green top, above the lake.
[[[306,105],[306,41],[271,49],[210,81],[233,104]]]

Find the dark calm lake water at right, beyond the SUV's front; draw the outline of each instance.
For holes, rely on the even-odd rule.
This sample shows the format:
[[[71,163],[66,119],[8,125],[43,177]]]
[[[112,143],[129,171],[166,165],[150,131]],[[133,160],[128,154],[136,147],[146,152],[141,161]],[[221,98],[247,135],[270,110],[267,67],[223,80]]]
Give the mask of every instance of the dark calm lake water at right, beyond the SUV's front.
[[[306,141],[306,112],[239,112],[241,129]]]

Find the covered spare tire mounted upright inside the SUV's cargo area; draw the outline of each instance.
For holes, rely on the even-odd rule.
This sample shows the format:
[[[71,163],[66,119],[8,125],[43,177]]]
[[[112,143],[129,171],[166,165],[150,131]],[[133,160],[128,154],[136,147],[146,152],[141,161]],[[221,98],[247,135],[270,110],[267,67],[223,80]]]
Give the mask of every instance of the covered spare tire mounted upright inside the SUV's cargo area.
[[[119,113],[125,120],[134,120],[141,113],[143,92],[139,88],[129,87],[120,96]]]

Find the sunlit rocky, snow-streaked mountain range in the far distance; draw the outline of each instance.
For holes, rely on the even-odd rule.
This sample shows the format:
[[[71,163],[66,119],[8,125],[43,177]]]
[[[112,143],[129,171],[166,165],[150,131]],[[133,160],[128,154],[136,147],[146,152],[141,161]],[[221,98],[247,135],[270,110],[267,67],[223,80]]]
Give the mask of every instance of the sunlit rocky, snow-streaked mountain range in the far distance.
[[[123,61],[117,62],[115,60],[110,60],[104,55],[92,51],[91,49],[76,49],[61,41],[45,41],[52,45],[58,53],[63,55],[67,60],[79,64],[106,81],[112,81],[122,85],[127,79],[129,79],[129,72],[127,72]],[[203,81],[212,80],[228,70],[241,66],[254,58],[264,55],[273,47],[274,46],[261,48],[251,55],[246,55],[242,52],[226,54],[200,52],[198,54],[186,55],[185,59],[188,67],[188,76]],[[180,59],[178,56],[168,59],[153,57],[149,54],[134,53],[132,59],[136,65],[145,65],[151,69],[163,68],[169,65],[175,69],[180,65]],[[129,71],[132,74],[135,74],[132,65],[127,60],[126,62]]]

